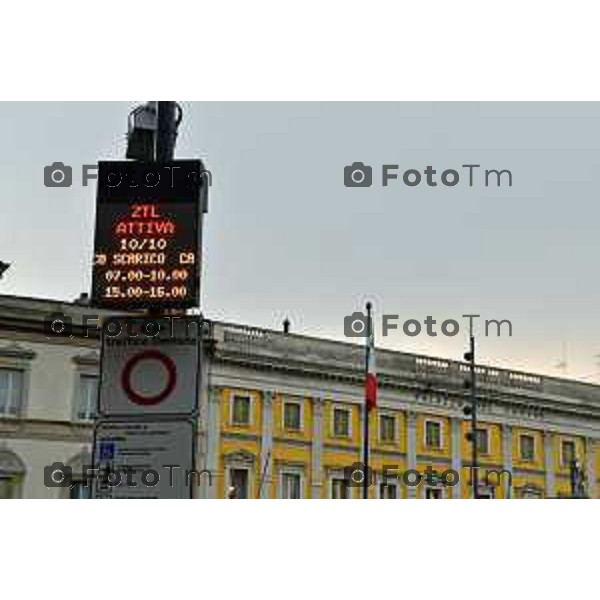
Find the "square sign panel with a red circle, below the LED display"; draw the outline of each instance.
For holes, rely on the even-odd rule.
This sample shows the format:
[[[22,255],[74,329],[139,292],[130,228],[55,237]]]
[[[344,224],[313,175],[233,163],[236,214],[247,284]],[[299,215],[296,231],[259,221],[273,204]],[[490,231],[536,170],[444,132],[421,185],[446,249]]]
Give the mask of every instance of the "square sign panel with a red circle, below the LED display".
[[[111,318],[102,328],[102,416],[190,415],[198,405],[200,321]]]

